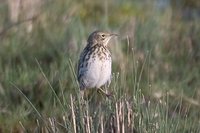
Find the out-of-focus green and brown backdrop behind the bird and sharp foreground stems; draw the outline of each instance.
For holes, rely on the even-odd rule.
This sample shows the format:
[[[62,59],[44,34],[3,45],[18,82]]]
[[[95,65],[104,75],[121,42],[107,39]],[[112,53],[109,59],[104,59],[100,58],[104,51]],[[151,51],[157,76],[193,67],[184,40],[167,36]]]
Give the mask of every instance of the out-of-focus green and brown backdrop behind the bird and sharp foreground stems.
[[[136,68],[145,99],[168,92],[169,110],[181,108],[183,121],[187,115],[195,123],[186,131],[200,131],[198,0],[0,0],[0,131],[20,131],[20,121],[36,125],[37,114],[14,85],[41,114],[59,117],[49,83],[60,99],[75,95],[69,60],[76,71],[97,29],[120,35],[109,48],[123,94],[132,94]]]

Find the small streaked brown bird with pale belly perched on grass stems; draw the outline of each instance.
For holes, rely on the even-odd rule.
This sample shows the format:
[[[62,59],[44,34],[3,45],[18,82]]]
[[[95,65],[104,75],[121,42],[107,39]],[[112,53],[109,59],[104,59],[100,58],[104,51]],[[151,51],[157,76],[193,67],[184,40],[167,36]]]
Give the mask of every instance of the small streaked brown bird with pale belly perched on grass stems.
[[[83,97],[84,90],[96,88],[107,97],[111,94],[101,89],[102,86],[109,86],[111,82],[111,53],[107,48],[109,40],[117,34],[95,31],[89,35],[87,45],[82,51],[79,63],[77,78]]]

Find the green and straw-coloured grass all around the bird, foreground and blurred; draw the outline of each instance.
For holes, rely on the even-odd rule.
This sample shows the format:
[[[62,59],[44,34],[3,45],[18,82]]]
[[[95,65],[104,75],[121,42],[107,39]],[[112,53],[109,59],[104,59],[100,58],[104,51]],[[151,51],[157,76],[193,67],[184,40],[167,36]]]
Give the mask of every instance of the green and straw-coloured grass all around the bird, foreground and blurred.
[[[139,1],[89,3],[96,12],[87,0],[45,1],[31,32],[0,6],[0,132],[199,132],[199,18],[174,20],[171,7]],[[76,65],[94,29],[120,34],[109,45],[113,98],[81,101]]]

